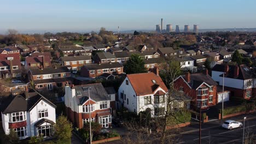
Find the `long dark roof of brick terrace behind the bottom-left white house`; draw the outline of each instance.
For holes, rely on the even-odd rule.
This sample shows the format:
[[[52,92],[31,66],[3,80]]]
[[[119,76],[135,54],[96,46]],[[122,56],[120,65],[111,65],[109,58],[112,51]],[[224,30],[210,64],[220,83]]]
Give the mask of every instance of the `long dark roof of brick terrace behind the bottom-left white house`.
[[[30,69],[32,75],[58,74],[70,73],[67,67],[60,68],[44,68],[44,69]]]

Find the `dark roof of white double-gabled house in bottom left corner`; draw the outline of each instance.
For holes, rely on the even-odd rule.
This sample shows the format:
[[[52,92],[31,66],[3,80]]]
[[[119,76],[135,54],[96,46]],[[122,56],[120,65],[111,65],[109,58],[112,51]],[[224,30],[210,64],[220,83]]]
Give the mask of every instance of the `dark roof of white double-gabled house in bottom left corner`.
[[[43,95],[35,91],[27,92],[27,98],[28,99],[26,99],[26,94],[18,94],[16,96],[10,95],[1,105],[2,113],[7,114],[20,111],[30,111],[42,99],[47,101],[48,104],[56,107],[48,99],[43,97]]]

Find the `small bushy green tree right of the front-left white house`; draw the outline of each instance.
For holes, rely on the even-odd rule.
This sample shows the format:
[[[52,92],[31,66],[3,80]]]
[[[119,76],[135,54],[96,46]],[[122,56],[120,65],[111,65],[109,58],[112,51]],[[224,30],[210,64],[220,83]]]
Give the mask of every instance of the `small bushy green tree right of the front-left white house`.
[[[68,140],[72,136],[72,123],[68,121],[67,117],[61,115],[56,120],[54,125],[54,135],[58,140]]]

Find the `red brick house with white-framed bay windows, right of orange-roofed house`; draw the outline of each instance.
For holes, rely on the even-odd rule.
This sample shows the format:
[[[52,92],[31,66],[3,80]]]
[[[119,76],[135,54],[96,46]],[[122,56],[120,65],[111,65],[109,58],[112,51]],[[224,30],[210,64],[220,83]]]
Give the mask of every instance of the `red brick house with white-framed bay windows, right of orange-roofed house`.
[[[208,75],[208,70],[206,74],[187,73],[174,80],[174,88],[192,98],[191,107],[198,107],[201,104],[202,109],[217,104],[217,85],[218,83]]]

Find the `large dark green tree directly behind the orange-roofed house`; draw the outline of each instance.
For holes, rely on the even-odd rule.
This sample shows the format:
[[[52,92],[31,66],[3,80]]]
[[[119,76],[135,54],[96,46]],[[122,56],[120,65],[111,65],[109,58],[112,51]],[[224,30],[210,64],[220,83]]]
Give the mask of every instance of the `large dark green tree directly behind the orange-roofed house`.
[[[145,62],[138,54],[133,54],[124,65],[126,74],[146,73]]]

